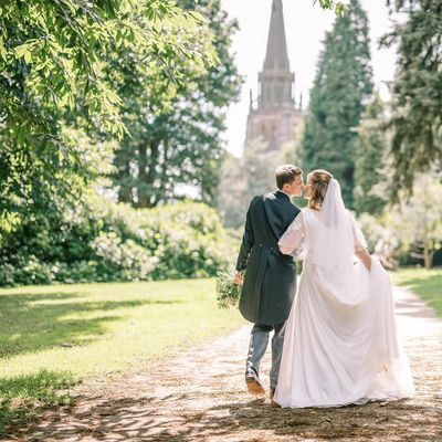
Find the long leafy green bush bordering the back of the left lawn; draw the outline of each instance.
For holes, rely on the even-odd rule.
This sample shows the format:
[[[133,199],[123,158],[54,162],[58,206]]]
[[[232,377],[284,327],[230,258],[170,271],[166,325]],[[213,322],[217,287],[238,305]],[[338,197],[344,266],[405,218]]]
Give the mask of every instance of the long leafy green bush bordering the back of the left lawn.
[[[95,192],[3,243],[2,286],[214,276],[238,246],[203,203],[135,210]]]

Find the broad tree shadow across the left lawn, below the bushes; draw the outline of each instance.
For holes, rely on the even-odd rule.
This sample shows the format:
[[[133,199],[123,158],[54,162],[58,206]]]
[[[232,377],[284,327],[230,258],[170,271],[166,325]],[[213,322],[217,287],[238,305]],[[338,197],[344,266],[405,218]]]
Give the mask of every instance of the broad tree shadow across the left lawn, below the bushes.
[[[106,334],[106,323],[124,320],[117,309],[179,301],[87,301],[84,293],[11,294],[0,296],[0,357],[75,346]],[[87,317],[91,314],[97,317]],[[75,318],[67,318],[75,315]],[[84,317],[83,317],[84,316]]]

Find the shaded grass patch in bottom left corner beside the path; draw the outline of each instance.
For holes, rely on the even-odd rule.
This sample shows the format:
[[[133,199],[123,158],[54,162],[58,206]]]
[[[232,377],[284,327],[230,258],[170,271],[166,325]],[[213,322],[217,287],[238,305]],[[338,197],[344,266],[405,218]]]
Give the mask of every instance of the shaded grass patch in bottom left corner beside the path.
[[[0,378],[0,436],[7,435],[8,425],[20,427],[35,419],[42,408],[71,404],[66,389],[75,383],[70,372],[49,370]]]

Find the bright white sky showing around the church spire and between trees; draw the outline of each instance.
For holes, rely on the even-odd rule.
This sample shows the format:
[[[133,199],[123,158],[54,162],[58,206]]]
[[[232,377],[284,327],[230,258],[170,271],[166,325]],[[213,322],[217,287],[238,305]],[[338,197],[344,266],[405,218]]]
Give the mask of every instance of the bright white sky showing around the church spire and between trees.
[[[241,156],[245,138],[249,112],[249,91],[257,95],[257,73],[262,70],[267,43],[272,0],[221,0],[231,18],[236,18],[240,31],[233,38],[233,51],[240,74],[245,76],[241,102],[229,109],[225,138],[228,149]],[[368,12],[371,61],[375,83],[392,80],[394,73],[394,50],[378,50],[378,40],[390,30],[390,20],[385,0],[361,0]],[[295,73],[295,97],[303,94],[303,107],[308,103],[316,62],[322,50],[326,30],[332,29],[334,12],[323,11],[313,0],[283,0],[285,34],[287,39],[291,71]],[[381,88],[382,93],[382,88]]]

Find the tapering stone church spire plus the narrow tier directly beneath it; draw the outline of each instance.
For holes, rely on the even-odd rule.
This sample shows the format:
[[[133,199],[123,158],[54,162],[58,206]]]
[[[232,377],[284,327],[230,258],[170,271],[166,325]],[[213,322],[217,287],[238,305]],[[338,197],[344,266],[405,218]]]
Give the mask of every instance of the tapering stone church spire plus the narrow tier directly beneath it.
[[[259,108],[294,107],[295,75],[290,72],[282,0],[272,1],[267,51],[259,80]]]

